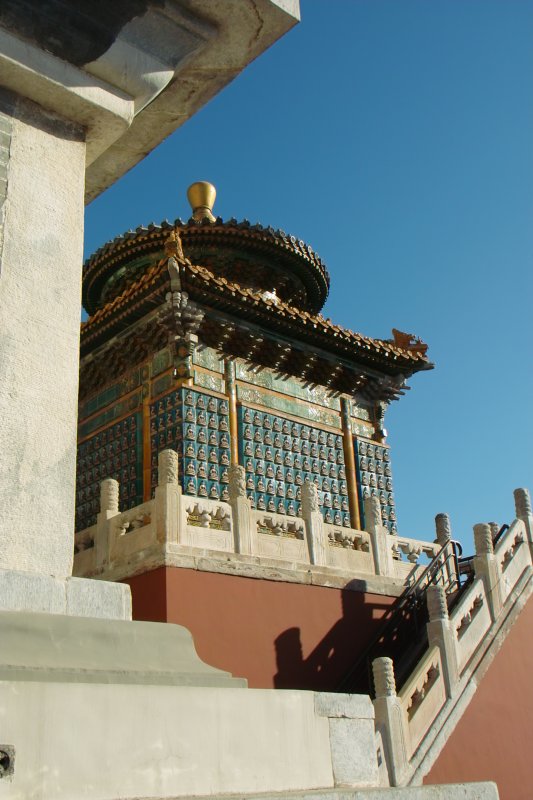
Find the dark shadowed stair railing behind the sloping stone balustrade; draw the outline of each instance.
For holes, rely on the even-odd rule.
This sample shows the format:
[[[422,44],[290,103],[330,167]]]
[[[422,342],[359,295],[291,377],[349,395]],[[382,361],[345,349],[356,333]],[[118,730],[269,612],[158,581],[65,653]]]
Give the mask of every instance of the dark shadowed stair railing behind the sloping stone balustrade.
[[[438,584],[444,587],[449,597],[456,595],[461,589],[461,554],[459,542],[446,542],[416,581],[407,586],[391,606],[378,634],[343,678],[337,691],[374,696],[372,662],[380,656],[393,659],[396,687],[402,687],[427,648],[427,588]]]

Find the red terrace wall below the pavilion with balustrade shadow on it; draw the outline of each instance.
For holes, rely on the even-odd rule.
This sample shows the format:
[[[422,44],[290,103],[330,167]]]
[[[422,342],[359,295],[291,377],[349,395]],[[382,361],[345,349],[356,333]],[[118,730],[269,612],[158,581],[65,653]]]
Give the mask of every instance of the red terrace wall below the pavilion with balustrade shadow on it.
[[[200,658],[254,688],[335,688],[395,600],[173,567],[128,583],[134,619],[185,625]]]

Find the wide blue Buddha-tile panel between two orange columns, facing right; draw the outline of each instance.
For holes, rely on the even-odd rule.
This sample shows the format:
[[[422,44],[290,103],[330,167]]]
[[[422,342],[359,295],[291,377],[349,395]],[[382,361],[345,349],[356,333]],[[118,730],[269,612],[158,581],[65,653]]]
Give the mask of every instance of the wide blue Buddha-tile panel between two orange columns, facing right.
[[[241,406],[239,460],[253,508],[300,516],[301,486],[309,480],[325,521],[350,527],[342,436]]]

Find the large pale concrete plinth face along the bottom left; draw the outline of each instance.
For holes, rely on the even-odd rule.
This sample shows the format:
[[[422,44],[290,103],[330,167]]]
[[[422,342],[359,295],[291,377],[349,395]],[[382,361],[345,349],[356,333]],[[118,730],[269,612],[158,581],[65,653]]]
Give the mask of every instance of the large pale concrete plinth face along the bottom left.
[[[0,683],[2,800],[116,800],[333,785],[311,692]]]

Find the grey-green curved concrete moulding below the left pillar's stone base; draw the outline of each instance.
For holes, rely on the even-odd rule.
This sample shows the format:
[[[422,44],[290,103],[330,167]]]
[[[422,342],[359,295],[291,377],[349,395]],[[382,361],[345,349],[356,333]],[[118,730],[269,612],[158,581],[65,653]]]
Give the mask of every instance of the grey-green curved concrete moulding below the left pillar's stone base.
[[[0,611],[0,680],[239,686],[181,625]]]

